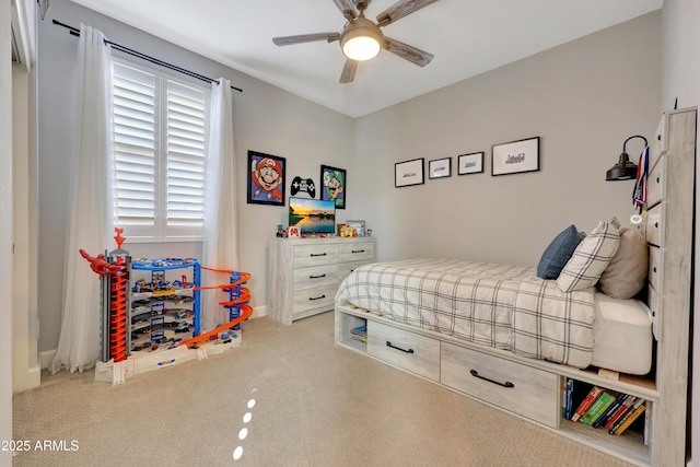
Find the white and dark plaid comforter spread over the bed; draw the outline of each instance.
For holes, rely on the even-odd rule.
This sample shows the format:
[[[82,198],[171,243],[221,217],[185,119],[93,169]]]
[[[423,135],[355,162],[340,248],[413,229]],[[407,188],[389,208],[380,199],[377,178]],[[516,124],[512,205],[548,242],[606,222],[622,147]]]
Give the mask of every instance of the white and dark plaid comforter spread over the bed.
[[[336,302],[523,357],[585,367],[593,355],[593,288],[563,293],[530,267],[375,262],[346,278]]]

